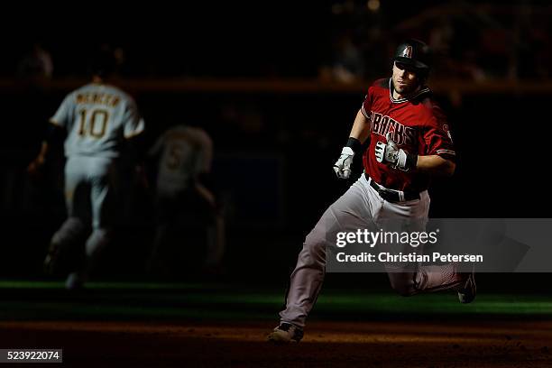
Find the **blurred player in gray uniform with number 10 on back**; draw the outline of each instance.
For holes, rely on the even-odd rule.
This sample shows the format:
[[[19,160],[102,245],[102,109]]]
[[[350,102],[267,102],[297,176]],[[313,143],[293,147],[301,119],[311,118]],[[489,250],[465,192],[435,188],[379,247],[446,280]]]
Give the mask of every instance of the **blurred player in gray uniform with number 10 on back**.
[[[28,169],[30,173],[39,170],[51,144],[64,137],[68,218],[52,236],[44,266],[49,273],[58,273],[60,268],[69,271],[68,289],[77,289],[87,281],[99,253],[109,242],[117,161],[130,141],[136,140],[144,130],[133,98],[104,83],[103,78],[112,65],[108,53],[97,56],[92,82],[65,97],[51,117],[41,152]],[[63,264],[68,258],[65,254],[75,253],[79,241],[86,236],[84,262],[78,264],[71,259],[72,265]]]

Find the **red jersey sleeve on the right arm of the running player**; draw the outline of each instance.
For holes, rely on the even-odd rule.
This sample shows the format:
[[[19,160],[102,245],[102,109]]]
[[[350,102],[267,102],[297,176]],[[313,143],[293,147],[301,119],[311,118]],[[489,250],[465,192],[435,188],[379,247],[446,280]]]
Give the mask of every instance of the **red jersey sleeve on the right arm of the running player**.
[[[447,160],[455,160],[456,152],[452,135],[446,123],[446,116],[439,106],[429,110],[428,123],[425,125],[423,140],[426,155],[437,154]]]

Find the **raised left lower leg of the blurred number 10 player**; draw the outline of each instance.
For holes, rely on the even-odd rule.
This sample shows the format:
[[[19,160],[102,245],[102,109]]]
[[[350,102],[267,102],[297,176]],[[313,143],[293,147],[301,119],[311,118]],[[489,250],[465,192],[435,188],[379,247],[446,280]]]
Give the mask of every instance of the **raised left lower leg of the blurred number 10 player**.
[[[70,250],[75,248],[87,229],[78,217],[69,217],[51,237],[50,248],[44,259],[44,271],[48,274],[60,273],[74,262]],[[75,249],[72,249],[75,251]]]

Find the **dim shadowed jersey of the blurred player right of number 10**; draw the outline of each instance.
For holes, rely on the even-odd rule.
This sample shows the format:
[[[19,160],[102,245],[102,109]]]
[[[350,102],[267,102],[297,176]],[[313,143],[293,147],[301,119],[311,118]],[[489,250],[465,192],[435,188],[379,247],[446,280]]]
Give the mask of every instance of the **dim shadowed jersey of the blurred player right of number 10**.
[[[199,173],[211,170],[213,143],[203,129],[177,125],[163,133],[150,151],[159,153],[157,188],[177,192],[188,188]]]

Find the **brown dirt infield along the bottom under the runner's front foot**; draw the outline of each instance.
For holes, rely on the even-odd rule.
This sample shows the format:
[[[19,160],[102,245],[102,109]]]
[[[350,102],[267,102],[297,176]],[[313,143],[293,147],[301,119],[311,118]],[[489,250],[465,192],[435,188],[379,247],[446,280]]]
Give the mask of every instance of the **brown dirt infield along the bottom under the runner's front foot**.
[[[550,321],[312,322],[299,345],[286,346],[264,342],[271,327],[9,321],[0,322],[0,346],[63,348],[68,367],[552,366]]]

